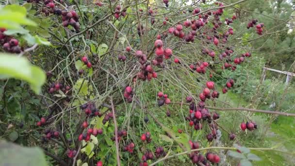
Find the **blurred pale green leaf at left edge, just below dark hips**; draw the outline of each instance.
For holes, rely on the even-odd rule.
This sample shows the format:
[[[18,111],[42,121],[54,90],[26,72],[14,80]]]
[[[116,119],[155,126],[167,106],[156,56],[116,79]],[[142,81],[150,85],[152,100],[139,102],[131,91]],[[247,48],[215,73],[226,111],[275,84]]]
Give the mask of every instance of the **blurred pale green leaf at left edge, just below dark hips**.
[[[37,94],[46,81],[43,70],[32,66],[25,57],[17,57],[14,54],[0,53],[0,75],[5,78],[16,78],[30,83],[31,88]]]

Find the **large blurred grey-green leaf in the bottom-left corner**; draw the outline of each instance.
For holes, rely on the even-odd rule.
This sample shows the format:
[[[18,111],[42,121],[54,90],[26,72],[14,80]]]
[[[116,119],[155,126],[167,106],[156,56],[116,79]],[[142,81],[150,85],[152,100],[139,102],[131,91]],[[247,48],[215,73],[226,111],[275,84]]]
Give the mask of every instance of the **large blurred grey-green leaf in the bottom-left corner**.
[[[0,141],[0,166],[47,166],[40,148],[24,148]]]

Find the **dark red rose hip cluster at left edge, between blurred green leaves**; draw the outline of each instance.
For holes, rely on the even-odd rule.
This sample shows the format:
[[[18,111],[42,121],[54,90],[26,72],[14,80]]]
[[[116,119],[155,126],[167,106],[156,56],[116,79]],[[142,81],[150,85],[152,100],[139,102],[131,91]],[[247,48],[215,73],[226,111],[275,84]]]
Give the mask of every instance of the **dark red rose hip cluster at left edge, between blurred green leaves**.
[[[5,28],[0,28],[0,45],[2,48],[11,53],[20,53],[21,47],[18,46],[18,40],[4,34]]]

